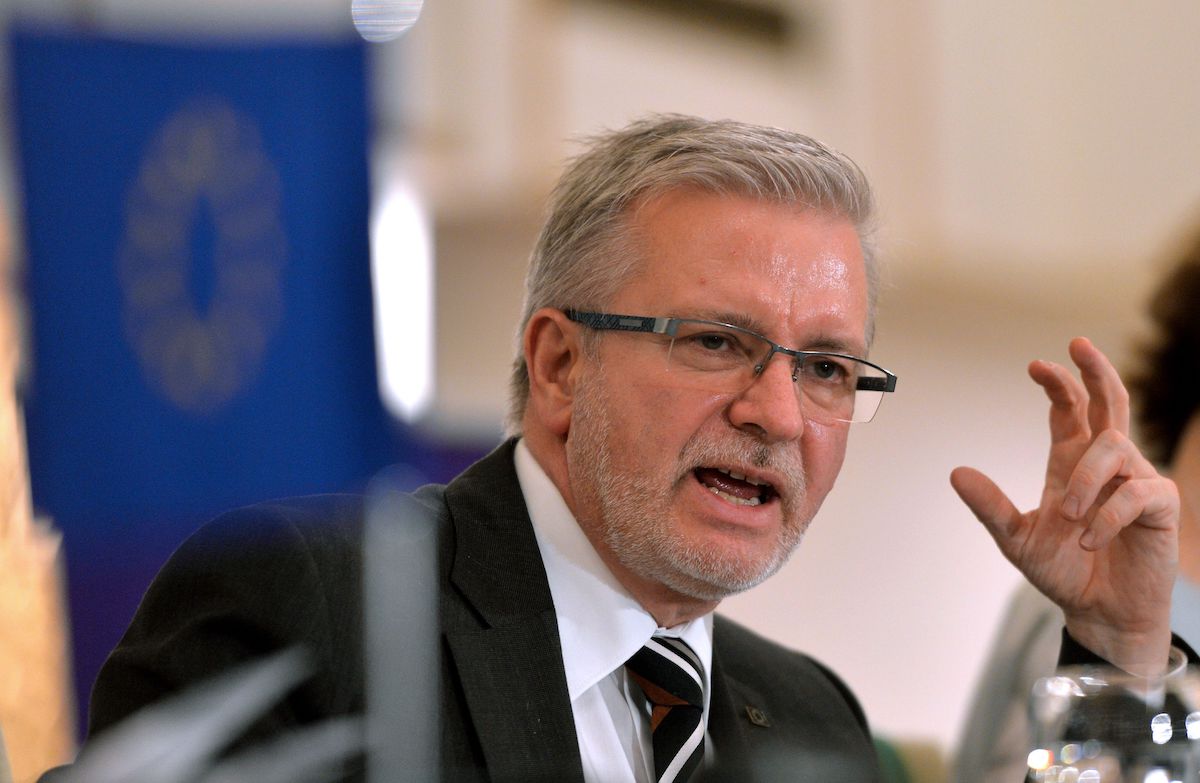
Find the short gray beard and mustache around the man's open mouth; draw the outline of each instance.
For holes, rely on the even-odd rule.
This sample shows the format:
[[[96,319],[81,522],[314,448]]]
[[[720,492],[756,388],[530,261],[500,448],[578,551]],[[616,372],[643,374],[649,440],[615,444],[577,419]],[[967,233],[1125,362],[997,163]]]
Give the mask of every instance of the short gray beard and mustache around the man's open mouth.
[[[799,545],[809,521],[790,507],[805,492],[799,458],[732,428],[720,437],[702,431],[688,441],[679,465],[689,472],[698,465],[751,464],[770,465],[788,477],[785,521],[773,551],[760,558],[722,556],[724,552],[713,551],[713,548],[682,539],[660,516],[647,514],[647,509],[670,507],[678,480],[694,479],[676,477],[671,485],[655,486],[653,480],[659,477],[625,474],[617,467],[623,460],[613,454],[607,438],[610,407],[602,387],[600,379],[577,387],[571,417],[572,484],[587,486],[600,510],[600,536],[622,566],[643,579],[701,600],[720,600],[778,572]]]

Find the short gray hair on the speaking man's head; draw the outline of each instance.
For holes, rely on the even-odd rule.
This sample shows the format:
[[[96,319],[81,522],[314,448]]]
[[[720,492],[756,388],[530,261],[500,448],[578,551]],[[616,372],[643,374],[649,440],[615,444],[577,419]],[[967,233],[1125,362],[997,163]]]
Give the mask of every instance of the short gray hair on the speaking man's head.
[[[848,219],[866,262],[870,345],[878,298],[875,205],[858,166],[824,144],[774,127],[658,114],[586,139],[550,197],[534,245],[509,387],[510,435],[529,399],[521,336],[541,307],[600,310],[637,271],[629,229],[635,202],[679,187],[733,193]]]

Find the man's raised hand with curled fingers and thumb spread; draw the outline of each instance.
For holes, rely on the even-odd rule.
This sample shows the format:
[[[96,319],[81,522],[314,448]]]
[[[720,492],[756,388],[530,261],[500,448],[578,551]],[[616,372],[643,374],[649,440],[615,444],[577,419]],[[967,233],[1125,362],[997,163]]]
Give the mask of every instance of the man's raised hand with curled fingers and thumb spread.
[[[1129,395],[1090,341],[1067,367],[1030,364],[1050,399],[1050,459],[1042,502],[1021,513],[970,467],[950,473],[959,497],[1000,550],[1058,604],[1070,635],[1110,663],[1158,674],[1170,645],[1180,501],[1129,440]]]

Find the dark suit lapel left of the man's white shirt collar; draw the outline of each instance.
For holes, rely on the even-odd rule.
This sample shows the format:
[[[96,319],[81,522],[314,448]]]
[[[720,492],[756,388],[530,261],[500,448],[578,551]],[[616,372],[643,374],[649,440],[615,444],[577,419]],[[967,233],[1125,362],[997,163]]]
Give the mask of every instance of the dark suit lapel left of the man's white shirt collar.
[[[558,622],[514,444],[446,488],[455,536],[450,580],[472,615],[464,622],[461,609],[444,605],[445,638],[488,776],[582,782]]]

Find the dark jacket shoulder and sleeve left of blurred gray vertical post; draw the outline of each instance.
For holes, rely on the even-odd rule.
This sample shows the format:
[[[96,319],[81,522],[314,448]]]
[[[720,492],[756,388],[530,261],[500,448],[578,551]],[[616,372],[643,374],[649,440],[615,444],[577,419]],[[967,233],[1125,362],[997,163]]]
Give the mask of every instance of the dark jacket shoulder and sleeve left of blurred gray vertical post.
[[[408,497],[437,506],[440,488]],[[359,495],[282,498],[227,512],[155,576],[97,676],[89,734],[277,650],[305,650],[314,675],[253,734],[362,706]]]

